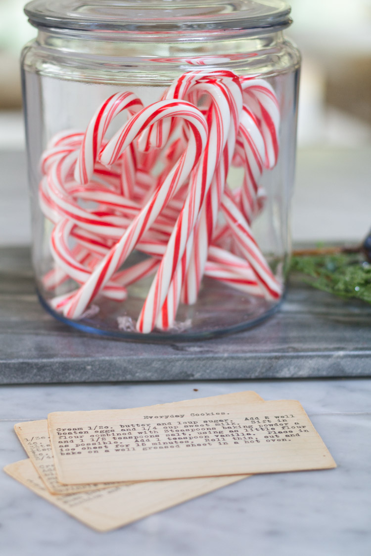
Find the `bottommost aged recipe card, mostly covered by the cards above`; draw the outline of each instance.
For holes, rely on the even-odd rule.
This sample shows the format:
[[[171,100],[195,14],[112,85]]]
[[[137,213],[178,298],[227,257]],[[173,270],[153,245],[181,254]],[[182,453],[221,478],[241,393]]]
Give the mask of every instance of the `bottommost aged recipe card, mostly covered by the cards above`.
[[[97,531],[109,531],[244,479],[245,476],[152,481],[111,486],[77,494],[48,492],[31,460],[7,465],[4,471],[19,483]]]

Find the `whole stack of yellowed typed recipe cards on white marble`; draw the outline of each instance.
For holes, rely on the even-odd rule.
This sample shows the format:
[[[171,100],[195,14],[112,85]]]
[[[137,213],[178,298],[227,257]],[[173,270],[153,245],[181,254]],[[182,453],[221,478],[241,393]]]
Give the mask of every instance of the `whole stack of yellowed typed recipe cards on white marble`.
[[[252,391],[61,411],[14,428],[29,459],[6,473],[99,531],[250,474],[336,466],[298,401],[264,401]]]

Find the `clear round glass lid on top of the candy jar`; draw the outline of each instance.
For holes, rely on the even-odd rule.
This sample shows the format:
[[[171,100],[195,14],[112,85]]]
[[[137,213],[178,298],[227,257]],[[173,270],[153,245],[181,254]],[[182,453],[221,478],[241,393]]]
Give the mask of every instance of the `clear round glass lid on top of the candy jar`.
[[[33,0],[24,11],[35,26],[106,31],[255,31],[291,23],[282,0]]]

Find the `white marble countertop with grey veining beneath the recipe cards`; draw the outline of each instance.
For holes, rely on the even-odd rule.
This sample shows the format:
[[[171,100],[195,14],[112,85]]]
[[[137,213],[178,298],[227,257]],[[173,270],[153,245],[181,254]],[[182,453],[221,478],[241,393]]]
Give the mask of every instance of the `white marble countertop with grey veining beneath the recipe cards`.
[[[255,475],[104,534],[1,473],[0,554],[369,556],[367,379],[3,386],[0,464],[25,456],[14,423],[42,419],[50,411],[135,407],[248,389],[265,399],[299,399],[338,468]]]

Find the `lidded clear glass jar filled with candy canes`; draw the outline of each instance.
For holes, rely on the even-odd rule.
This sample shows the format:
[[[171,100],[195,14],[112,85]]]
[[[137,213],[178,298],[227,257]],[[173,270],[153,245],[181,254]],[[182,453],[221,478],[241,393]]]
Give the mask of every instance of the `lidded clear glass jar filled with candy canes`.
[[[34,0],[22,77],[39,298],[126,339],[246,329],[290,254],[300,54],[281,0]]]

